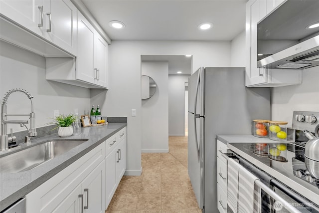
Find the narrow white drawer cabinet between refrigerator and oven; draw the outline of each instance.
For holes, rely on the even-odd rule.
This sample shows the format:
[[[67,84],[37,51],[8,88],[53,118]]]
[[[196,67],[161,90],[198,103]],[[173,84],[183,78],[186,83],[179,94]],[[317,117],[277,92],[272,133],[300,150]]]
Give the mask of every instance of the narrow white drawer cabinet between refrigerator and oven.
[[[222,153],[227,152],[227,145],[217,140],[217,209],[227,213],[227,160]]]

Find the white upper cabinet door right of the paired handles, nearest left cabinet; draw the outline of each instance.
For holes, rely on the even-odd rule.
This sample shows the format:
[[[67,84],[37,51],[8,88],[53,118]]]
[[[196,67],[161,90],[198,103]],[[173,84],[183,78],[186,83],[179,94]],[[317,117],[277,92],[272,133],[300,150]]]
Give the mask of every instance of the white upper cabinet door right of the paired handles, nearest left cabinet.
[[[43,4],[44,38],[76,55],[76,6],[70,0],[44,0]]]

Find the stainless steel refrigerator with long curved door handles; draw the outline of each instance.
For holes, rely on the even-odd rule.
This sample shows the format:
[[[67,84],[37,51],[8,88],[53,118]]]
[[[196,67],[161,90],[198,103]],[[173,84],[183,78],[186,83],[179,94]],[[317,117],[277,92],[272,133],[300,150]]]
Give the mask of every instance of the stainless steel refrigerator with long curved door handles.
[[[245,87],[243,67],[200,67],[188,79],[188,175],[199,208],[217,210],[218,134],[252,134],[270,119],[270,89]]]

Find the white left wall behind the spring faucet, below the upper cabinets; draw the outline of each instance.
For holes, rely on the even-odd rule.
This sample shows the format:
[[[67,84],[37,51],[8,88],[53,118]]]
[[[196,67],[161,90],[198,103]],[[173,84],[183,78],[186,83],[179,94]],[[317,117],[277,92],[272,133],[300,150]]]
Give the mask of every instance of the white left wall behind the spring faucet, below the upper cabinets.
[[[60,114],[79,115],[90,108],[90,90],[45,80],[45,58],[0,41],[0,98],[12,88],[23,88],[33,95],[36,127],[45,126],[53,117],[53,110]],[[21,92],[12,93],[7,102],[8,114],[28,114],[30,100]],[[12,117],[11,117],[12,118]],[[28,116],[12,119],[28,120]],[[28,124],[27,124],[28,126]],[[7,131],[25,130],[17,124],[7,125]]]

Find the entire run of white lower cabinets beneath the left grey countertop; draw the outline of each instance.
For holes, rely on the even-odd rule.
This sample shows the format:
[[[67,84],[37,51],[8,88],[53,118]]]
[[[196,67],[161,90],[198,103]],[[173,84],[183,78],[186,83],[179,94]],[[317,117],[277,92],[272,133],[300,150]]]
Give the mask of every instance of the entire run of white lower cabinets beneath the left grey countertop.
[[[104,213],[126,170],[126,127],[27,194],[26,213]]]

